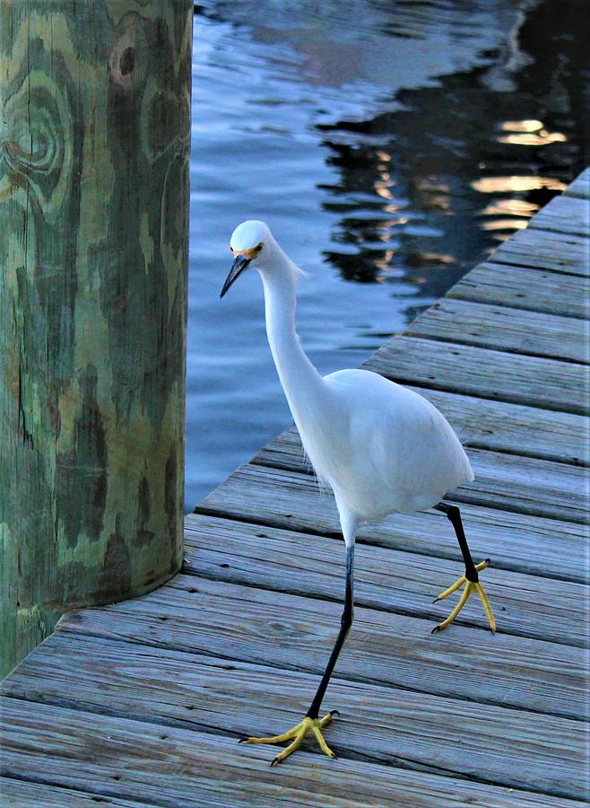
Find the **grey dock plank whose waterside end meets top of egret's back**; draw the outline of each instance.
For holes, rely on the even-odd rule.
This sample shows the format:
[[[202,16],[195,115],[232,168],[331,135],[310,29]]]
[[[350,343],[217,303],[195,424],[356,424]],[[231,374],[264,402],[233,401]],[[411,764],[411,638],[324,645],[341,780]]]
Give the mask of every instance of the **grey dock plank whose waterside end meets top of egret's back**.
[[[588,370],[538,356],[399,336],[363,363],[395,382],[586,415]]]

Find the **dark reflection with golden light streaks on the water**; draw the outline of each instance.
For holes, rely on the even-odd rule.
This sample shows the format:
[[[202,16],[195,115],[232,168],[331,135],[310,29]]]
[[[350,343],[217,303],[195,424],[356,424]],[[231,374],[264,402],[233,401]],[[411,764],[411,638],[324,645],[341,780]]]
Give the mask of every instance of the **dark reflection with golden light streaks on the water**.
[[[334,241],[348,248],[326,250],[325,258],[344,278],[383,280],[401,270],[420,294],[439,294],[449,266],[460,270],[484,258],[581,170],[580,121],[587,113],[579,92],[588,82],[579,38],[564,33],[576,24],[573,6],[581,13],[581,4],[560,6],[565,13],[547,27],[555,2],[521,6],[528,13],[514,23],[510,47],[499,49],[488,68],[445,76],[436,90],[398,92],[403,110],[320,125],[330,162],[340,169],[329,189],[338,201],[325,207],[343,213]],[[522,116],[541,110],[542,119]],[[371,186],[387,206],[370,198]],[[389,212],[398,215],[380,219]],[[379,249],[377,227],[395,249]],[[444,262],[432,261],[434,242]],[[417,277],[415,268],[428,274]]]

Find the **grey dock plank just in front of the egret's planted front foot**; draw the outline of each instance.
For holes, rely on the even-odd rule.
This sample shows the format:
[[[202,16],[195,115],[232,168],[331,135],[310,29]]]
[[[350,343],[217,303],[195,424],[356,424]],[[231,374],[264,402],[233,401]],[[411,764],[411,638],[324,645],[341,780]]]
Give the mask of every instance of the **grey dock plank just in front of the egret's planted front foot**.
[[[290,677],[299,684],[294,674]],[[245,699],[234,712],[242,713],[246,705]],[[100,800],[116,792],[126,799],[166,808],[180,804],[226,808],[229,794],[232,805],[252,805],[254,798],[256,805],[269,808],[277,804],[318,808],[412,804],[427,808],[433,802],[461,805],[466,800],[503,808],[507,800],[514,799],[532,806],[579,805],[562,796],[553,798],[363,760],[324,760],[308,751],[300,751],[289,767],[271,770],[268,749],[238,746],[235,736],[90,713],[81,722],[78,710],[13,699],[4,699],[0,715],[9,745],[6,762],[15,776],[36,774],[54,787],[85,788]],[[248,717],[254,716],[248,712]],[[17,727],[22,727],[20,733]],[[39,760],[43,760],[42,773]],[[553,771],[559,776],[559,761]],[[542,783],[547,779],[544,776]],[[27,803],[28,808],[31,805]]]

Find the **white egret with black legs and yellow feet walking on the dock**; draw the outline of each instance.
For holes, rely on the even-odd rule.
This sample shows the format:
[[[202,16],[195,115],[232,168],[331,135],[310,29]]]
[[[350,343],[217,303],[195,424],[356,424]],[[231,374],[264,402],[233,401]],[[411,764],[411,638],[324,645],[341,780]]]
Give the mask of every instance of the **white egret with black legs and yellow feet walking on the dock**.
[[[239,224],[231,235],[233,264],[221,297],[249,266],[265,288],[266,333],[282,388],[301,442],[317,478],[334,491],[346,547],[346,585],[342,622],[334,649],[307,715],[296,726],[272,738],[245,738],[249,743],[290,741],[273,760],[284,760],[313,733],[322,751],[334,753],[321,730],[336,711],[319,718],[334,665],[353,619],[354,540],[358,525],[379,522],[387,514],[410,513],[434,506],[447,515],[456,531],[465,574],[437,600],[464,584],[459,602],[439,631],[456,618],[472,593],[477,593],[495,630],[490,603],[478,572],[489,559],[473,563],[456,505],[441,502],[451,488],[473,480],[463,446],[445,417],[415,392],[377,373],[343,370],[322,377],[304,353],[295,330],[296,282],[301,270],[287,257],[264,222]]]

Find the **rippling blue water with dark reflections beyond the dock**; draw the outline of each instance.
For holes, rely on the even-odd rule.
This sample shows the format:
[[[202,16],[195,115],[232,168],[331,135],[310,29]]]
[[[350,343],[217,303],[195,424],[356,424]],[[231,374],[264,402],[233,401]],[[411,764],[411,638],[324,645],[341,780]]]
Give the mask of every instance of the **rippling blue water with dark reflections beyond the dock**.
[[[573,0],[195,9],[187,510],[291,422],[257,273],[219,301],[233,228],[265,219],[310,273],[298,324],[319,369],[360,364],[590,162],[587,16]]]

